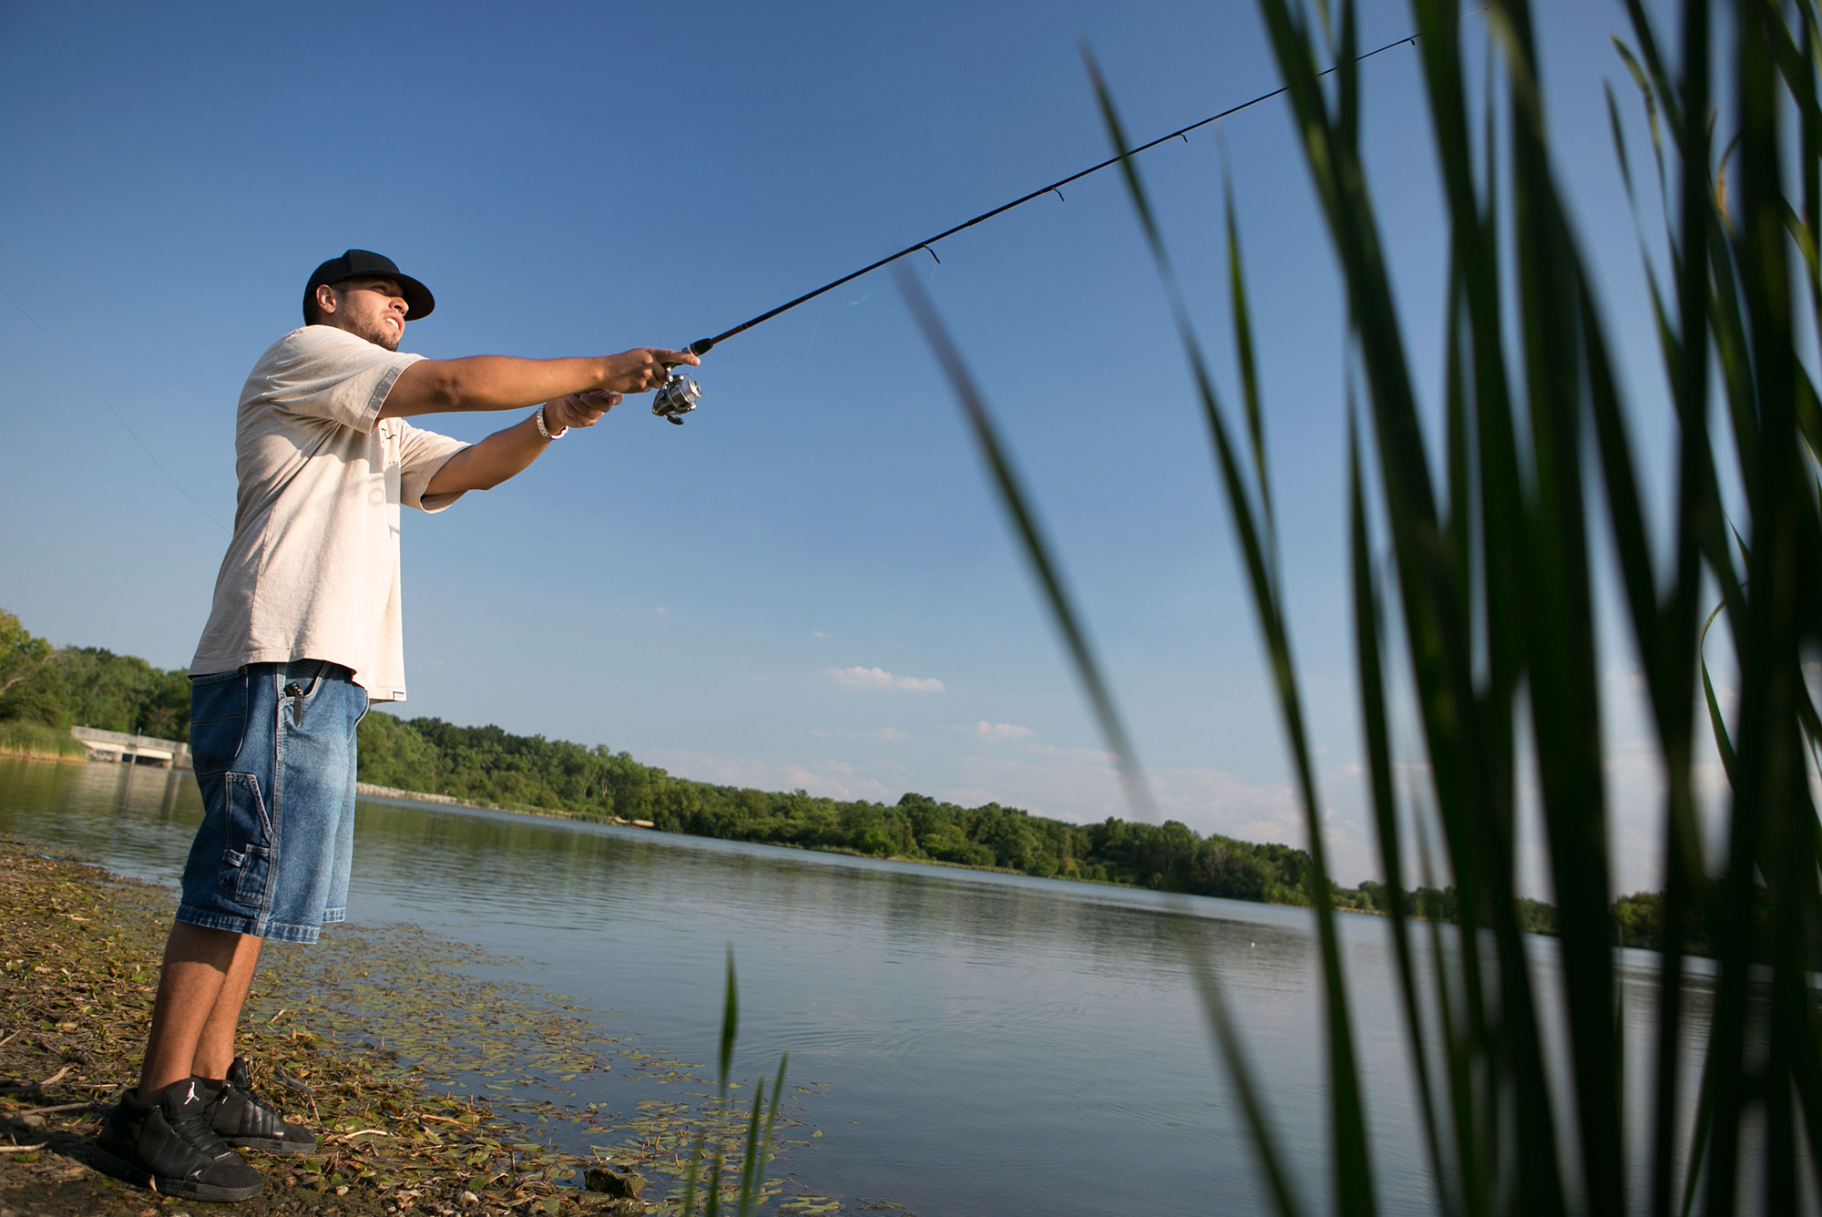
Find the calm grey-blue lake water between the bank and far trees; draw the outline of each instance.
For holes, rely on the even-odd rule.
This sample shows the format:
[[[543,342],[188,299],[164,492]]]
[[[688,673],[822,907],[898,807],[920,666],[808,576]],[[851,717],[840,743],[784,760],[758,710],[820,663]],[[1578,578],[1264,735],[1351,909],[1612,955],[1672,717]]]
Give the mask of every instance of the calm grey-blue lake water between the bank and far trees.
[[[0,758],[0,833],[124,874],[175,882],[200,814],[189,774]],[[774,1171],[920,1217],[1264,1213],[1186,964],[1195,942],[1219,967],[1297,1186],[1306,1201],[1328,1186],[1321,987],[1301,909],[363,800],[350,918],[519,956],[514,978],[603,1011],[603,1035],[638,1033],[685,1060],[714,1058],[732,946],[736,1077],[789,1051],[793,1080],[825,1086],[807,1111],[822,1135]],[[1381,1212],[1428,1212],[1387,924],[1345,916],[1341,935]],[[1638,1048],[1653,958],[1625,953]],[[1536,969],[1549,989],[1547,940]]]

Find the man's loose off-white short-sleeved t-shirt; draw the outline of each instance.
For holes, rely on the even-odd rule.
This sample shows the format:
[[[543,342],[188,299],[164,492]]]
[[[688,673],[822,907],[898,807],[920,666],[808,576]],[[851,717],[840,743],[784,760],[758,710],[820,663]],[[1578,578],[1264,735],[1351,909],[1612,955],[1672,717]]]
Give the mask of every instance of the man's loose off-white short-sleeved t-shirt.
[[[459,499],[425,486],[468,446],[379,417],[419,359],[302,326],[253,364],[235,423],[233,539],[191,674],[328,660],[374,701],[404,700],[399,505],[439,512]]]

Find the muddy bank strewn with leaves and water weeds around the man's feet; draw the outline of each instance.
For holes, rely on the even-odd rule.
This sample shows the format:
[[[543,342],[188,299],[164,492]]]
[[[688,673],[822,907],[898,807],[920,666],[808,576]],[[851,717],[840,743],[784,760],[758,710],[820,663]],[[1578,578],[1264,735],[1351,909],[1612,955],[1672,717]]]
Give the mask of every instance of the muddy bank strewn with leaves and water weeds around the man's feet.
[[[109,1177],[98,1170],[95,1133],[137,1077],[171,889],[56,854],[55,844],[0,836],[0,918],[9,927],[0,947],[0,1210],[144,1217],[162,1202],[164,1212],[179,1204],[257,1217],[665,1212],[661,1202],[578,1186],[587,1168],[603,1162],[554,1150],[548,1122],[596,1124],[598,1113],[457,1093],[448,1073],[437,1075],[446,1062],[434,1053],[410,1060],[383,1046],[384,1017],[381,1048],[359,1042],[364,1007],[399,989],[388,969],[410,986],[408,1026],[425,1024],[421,1009],[476,1000],[476,986],[457,973],[472,953],[415,929],[337,927],[315,947],[268,944],[275,949],[261,960],[239,1048],[253,1060],[255,1086],[317,1133],[317,1153],[244,1151],[266,1190],[231,1204],[168,1201]],[[368,982],[368,971],[386,975]],[[483,1000],[494,1002],[490,1013],[517,1002],[512,1015],[532,1020],[539,1042],[568,1035],[565,1048],[592,1049],[576,1038],[583,1020],[574,1015],[512,993],[501,998],[499,986]],[[583,1062],[572,1051],[572,1058],[607,1068],[592,1055]],[[629,1159],[638,1164],[630,1142],[650,1133],[640,1124],[589,1131],[594,1140],[629,1139],[630,1151],[612,1155],[619,1168]]]

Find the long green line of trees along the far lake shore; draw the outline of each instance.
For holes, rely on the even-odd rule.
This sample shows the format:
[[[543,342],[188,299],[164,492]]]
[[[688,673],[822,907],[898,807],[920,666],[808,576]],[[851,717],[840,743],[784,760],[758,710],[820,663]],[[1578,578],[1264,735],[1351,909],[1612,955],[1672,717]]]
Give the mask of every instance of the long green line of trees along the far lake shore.
[[[100,647],[51,647],[0,610],[0,725],[31,723],[126,731],[189,740],[189,680]],[[568,740],[516,736],[499,727],[457,727],[439,718],[368,714],[359,738],[361,782],[468,803],[558,811],[576,820],[649,822],[663,833],[827,849],[875,858],[938,862],[1126,884],[1195,896],[1310,904],[1310,854],[1292,845],[1203,836],[1177,820],[1142,823],[1110,816],[1071,823],[1018,807],[960,807],[926,794],[896,803],[818,798],[678,778],[627,752]],[[1337,907],[1388,913],[1392,889],[1377,882],[1339,887]],[[1405,911],[1456,920],[1454,887],[1403,893]],[[1556,909],[1520,902],[1525,929],[1556,933]],[[1636,893],[1614,904],[1623,946],[1656,949],[1662,896]]]

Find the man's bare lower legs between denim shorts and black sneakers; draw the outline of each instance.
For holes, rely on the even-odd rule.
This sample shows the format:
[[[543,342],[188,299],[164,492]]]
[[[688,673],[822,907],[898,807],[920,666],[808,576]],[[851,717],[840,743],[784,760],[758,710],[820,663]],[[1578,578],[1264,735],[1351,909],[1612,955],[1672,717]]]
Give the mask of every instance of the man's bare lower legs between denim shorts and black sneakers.
[[[261,940],[251,935],[171,924],[138,1075],[140,1097],[186,1077],[228,1073],[259,947]]]

